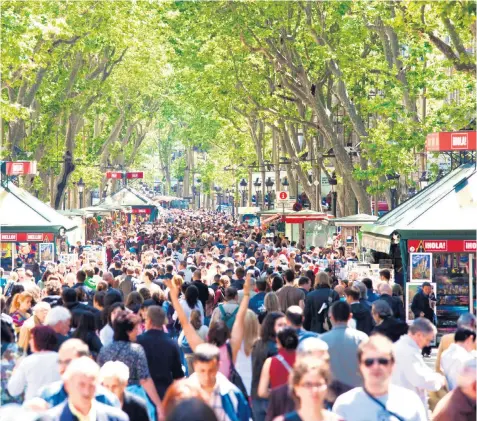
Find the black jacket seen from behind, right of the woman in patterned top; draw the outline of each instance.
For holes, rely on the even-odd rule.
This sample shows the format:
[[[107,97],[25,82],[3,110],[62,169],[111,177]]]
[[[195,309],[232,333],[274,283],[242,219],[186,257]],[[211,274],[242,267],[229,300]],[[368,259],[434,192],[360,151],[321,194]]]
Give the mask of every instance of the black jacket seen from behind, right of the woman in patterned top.
[[[167,333],[150,329],[137,337],[146,353],[147,365],[157,393],[163,399],[171,383],[184,377],[181,366],[179,345]]]

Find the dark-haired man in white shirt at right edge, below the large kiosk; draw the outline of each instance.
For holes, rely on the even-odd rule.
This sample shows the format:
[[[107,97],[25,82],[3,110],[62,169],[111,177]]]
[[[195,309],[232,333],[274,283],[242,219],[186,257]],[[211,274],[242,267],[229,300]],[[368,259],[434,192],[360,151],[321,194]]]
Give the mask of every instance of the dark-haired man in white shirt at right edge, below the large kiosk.
[[[441,370],[446,376],[449,390],[457,387],[457,378],[465,363],[475,355],[475,331],[470,329],[458,329],[454,336],[454,343],[444,351],[441,357]]]

